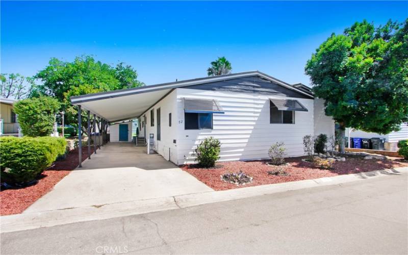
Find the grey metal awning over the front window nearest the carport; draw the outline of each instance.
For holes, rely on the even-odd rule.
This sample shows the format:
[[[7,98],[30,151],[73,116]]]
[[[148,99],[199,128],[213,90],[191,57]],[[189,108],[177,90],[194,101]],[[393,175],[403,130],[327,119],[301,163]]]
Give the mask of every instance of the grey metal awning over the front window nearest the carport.
[[[217,100],[183,98],[184,112],[187,113],[224,113]]]

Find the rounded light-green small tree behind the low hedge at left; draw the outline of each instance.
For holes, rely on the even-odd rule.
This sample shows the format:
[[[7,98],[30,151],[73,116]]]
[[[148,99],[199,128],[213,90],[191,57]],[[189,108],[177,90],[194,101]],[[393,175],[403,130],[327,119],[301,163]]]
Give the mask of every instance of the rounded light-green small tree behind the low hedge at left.
[[[60,108],[57,99],[40,96],[18,101],[14,112],[18,115],[21,131],[26,136],[48,136],[52,133]]]

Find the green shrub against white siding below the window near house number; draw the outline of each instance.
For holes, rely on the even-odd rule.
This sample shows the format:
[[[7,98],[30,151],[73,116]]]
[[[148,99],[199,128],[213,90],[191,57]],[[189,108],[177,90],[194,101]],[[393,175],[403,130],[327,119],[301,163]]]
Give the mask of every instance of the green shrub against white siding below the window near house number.
[[[220,158],[220,141],[213,137],[206,137],[195,149],[196,161],[203,167],[214,167]]]

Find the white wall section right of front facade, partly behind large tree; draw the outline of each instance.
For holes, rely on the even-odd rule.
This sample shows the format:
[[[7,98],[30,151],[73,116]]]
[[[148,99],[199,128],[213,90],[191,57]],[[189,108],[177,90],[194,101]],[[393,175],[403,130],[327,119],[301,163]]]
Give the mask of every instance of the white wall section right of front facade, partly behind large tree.
[[[324,99],[314,100],[314,134],[325,134],[328,137],[335,135],[335,121],[324,113]]]

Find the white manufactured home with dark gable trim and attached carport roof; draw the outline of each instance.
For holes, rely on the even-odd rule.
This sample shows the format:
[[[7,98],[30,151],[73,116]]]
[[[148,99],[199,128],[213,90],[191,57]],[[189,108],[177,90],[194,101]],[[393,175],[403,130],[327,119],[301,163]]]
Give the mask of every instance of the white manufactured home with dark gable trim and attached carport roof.
[[[221,142],[220,161],[233,161],[268,158],[275,142],[285,143],[288,156],[303,156],[303,136],[335,132],[323,100],[314,98],[308,87],[259,71],[75,96],[71,101],[107,122],[138,119],[139,139],[152,136],[155,151],[177,165],[193,163],[196,145],[208,136]],[[125,139],[120,124],[111,126],[111,141]]]

